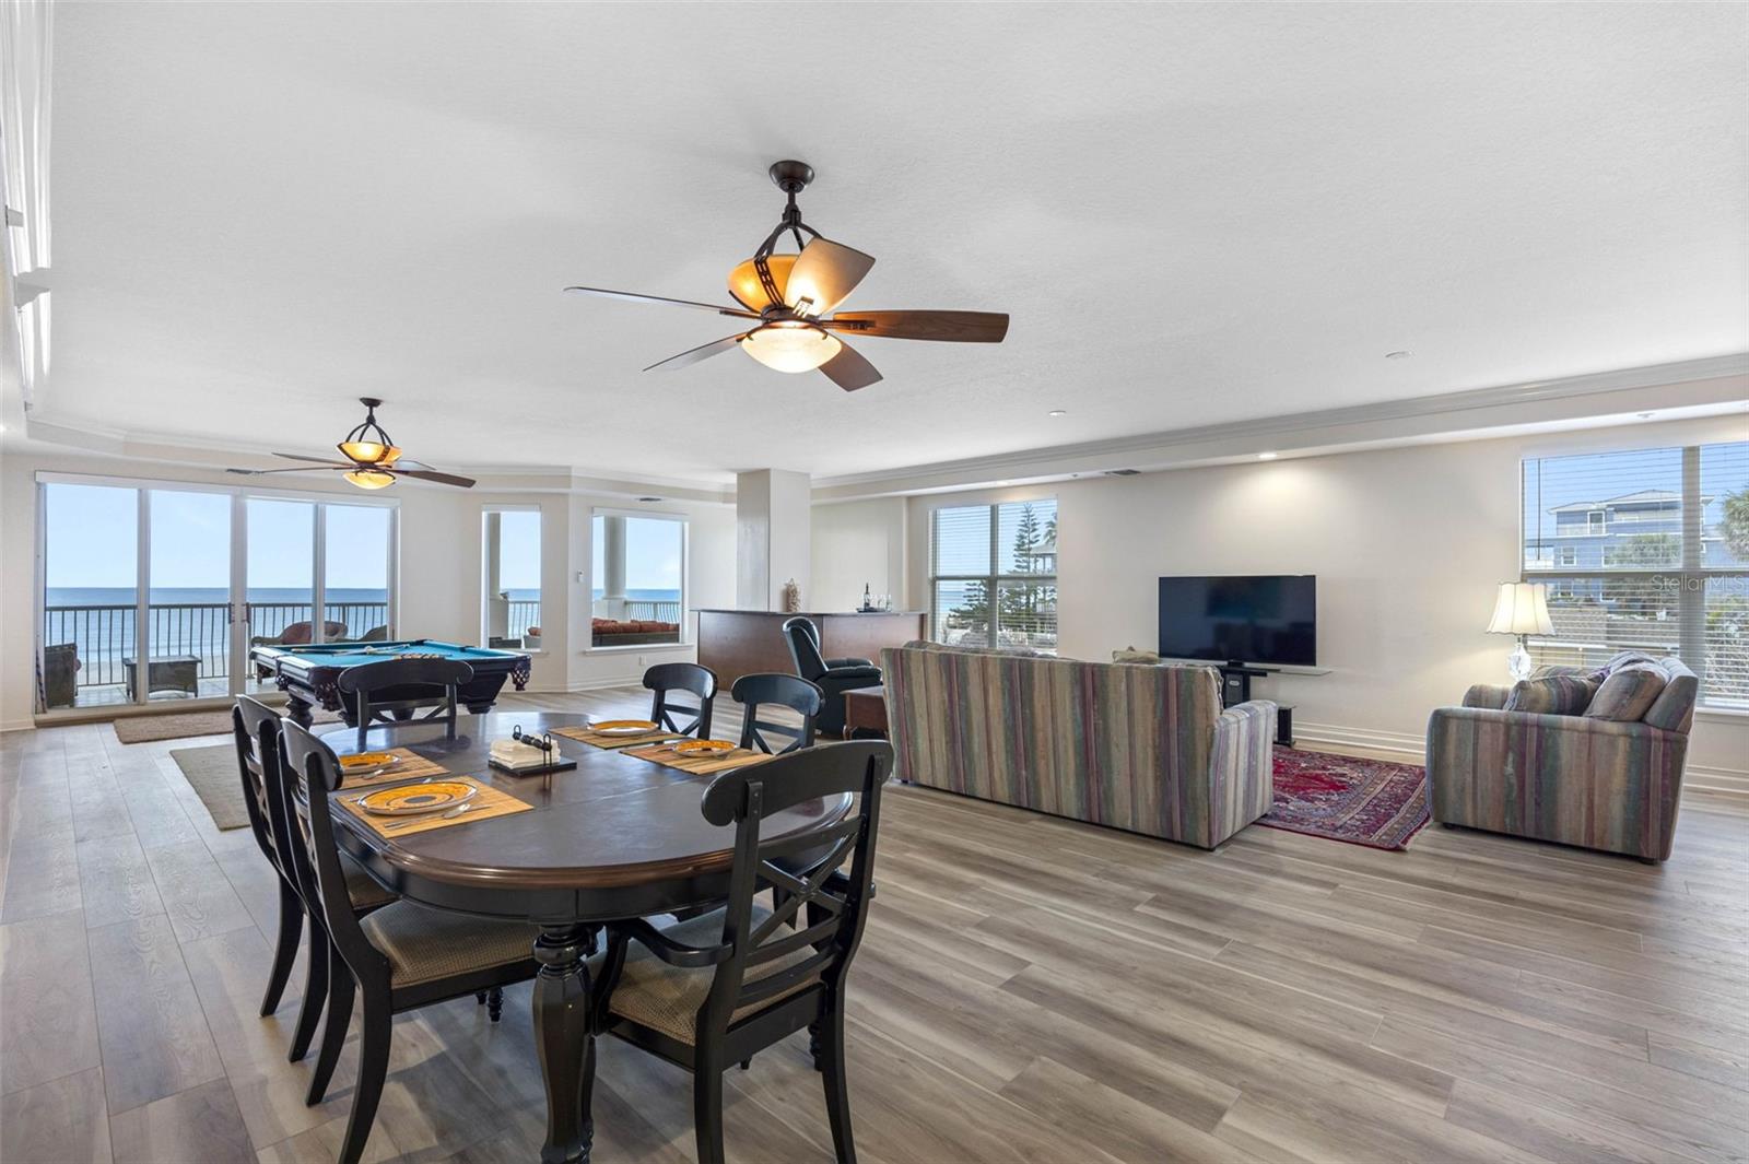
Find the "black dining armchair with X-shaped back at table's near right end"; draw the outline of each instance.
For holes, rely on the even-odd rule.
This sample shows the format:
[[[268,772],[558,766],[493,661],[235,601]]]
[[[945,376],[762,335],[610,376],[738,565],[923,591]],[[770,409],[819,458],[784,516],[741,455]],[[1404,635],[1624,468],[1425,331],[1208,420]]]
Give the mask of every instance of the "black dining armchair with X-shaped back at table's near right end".
[[[745,1066],[803,1028],[815,1070],[826,1077],[833,1152],[840,1164],[855,1161],[845,973],[873,897],[880,793],[890,769],[890,745],[855,741],[719,776],[705,790],[701,811],[712,825],[735,825],[728,904],[665,930],[647,921],[609,926],[596,1022],[693,1073],[698,1164],[722,1162],[728,1066]],[[831,828],[789,839],[763,835],[764,821],[784,809],[843,793],[857,797],[855,807]],[[791,872],[798,860],[806,874]],[[754,900],[766,884],[784,890],[775,912]],[[806,925],[792,930],[803,909]]]

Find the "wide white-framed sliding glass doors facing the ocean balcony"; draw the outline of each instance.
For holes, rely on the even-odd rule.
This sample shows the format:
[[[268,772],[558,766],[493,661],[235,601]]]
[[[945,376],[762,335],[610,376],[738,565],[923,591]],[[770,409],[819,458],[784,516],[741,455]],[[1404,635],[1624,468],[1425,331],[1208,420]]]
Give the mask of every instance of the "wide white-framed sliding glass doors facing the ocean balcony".
[[[394,633],[392,505],[44,474],[44,711],[273,690],[254,645]]]

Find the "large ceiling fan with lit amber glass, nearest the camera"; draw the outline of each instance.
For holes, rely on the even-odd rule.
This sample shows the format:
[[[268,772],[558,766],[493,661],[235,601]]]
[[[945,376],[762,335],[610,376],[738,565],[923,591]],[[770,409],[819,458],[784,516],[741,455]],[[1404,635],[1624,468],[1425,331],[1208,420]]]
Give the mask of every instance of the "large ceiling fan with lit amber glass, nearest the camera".
[[[771,182],[789,196],[789,203],[784,206],[784,218],[759,245],[754,257],[729,273],[729,295],[740,308],[600,287],[567,287],[565,290],[631,299],[633,302],[668,302],[738,320],[754,320],[752,327],[733,336],[658,360],[644,369],[645,372],[658,367],[686,367],[719,351],[740,348],[778,372],[820,369],[845,391],[855,391],[878,381],[880,372],[847,344],[843,336],[972,344],[999,344],[1007,336],[1007,315],[1000,311],[836,311],[838,304],[874,266],[874,257],[834,243],[801,220],[796,194],[813,182],[812,166],[799,161],[780,161],[771,164],[770,173]],[[806,239],[803,239],[803,232],[808,234]],[[794,236],[798,253],[773,253],[784,234]]]

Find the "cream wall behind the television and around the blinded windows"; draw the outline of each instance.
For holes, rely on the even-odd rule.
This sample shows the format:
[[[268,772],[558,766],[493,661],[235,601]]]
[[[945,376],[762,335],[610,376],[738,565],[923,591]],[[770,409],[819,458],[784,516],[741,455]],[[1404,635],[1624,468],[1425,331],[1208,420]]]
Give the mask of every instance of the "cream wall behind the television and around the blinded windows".
[[[915,496],[909,594],[927,594],[934,507],[1051,495],[1069,657],[1153,648],[1160,575],[1315,573],[1329,675],[1273,676],[1258,694],[1294,704],[1307,741],[1418,753],[1432,708],[1506,678],[1511,643],[1481,627],[1495,585],[1518,577],[1522,456],[1744,439],[1739,416]],[[817,542],[861,528],[822,530],[840,509],[815,509]],[[861,537],[874,554],[878,531]],[[1746,769],[1749,718],[1700,717],[1691,776],[1749,786]]]

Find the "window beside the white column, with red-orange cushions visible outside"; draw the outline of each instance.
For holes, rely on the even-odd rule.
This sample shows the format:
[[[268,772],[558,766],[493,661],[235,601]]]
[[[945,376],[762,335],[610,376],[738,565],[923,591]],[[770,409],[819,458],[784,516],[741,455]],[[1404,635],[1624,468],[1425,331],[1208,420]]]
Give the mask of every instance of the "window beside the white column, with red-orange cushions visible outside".
[[[589,643],[679,643],[686,610],[686,521],[596,510],[591,524]]]

